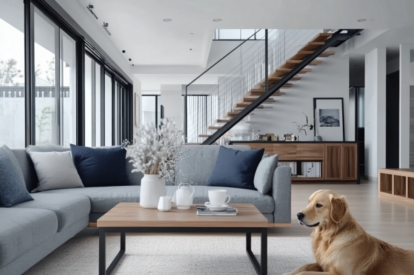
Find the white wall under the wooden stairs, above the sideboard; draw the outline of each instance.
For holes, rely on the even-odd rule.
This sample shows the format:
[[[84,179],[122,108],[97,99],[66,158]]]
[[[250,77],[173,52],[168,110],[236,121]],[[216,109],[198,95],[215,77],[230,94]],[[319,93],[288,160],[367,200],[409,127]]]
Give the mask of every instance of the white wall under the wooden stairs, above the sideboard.
[[[331,49],[330,49],[331,50]],[[337,48],[332,49],[338,51]],[[344,131],[346,141],[353,141],[355,133],[353,127],[355,119],[350,119],[349,113],[349,60],[337,52],[334,56],[321,58],[323,63],[317,66],[309,66],[312,72],[300,74],[302,80],[291,82],[294,86],[282,89],[286,95],[274,97],[276,103],[269,111],[256,110],[251,116],[252,126],[255,132],[273,133],[283,136],[285,132],[293,132],[297,135],[294,121],[300,124],[306,123],[302,111],[308,116],[309,123],[313,124],[313,97],[343,97],[343,111],[345,117]],[[300,140],[313,140],[313,130],[300,132]]]

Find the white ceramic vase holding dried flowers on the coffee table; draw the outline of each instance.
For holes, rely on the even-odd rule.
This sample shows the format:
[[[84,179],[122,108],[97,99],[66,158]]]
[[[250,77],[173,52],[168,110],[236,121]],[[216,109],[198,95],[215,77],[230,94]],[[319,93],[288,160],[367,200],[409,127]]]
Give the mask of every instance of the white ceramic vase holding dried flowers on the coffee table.
[[[165,196],[165,180],[158,178],[158,175],[144,175],[141,180],[141,207],[157,208],[161,196]]]

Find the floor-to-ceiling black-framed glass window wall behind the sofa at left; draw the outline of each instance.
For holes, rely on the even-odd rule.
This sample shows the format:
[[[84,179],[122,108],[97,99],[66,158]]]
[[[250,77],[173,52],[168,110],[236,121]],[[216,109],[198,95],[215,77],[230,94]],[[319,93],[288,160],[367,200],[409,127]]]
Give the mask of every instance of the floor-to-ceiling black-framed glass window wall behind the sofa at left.
[[[44,1],[0,7],[0,146],[131,140],[132,85],[80,26]]]

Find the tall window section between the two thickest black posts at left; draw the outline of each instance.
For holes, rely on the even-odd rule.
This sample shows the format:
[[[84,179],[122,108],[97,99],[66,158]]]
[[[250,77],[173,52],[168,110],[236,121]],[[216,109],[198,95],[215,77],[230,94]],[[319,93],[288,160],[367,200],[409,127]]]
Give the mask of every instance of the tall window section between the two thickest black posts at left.
[[[76,143],[75,45],[34,8],[36,145]]]

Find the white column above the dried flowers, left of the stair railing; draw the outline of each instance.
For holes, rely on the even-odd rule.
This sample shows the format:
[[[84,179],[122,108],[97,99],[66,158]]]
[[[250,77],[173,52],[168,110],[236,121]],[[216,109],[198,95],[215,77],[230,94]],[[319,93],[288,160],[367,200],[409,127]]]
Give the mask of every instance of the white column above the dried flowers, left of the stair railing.
[[[161,104],[164,107],[164,117],[172,118],[175,128],[182,129],[182,85],[161,84]]]

